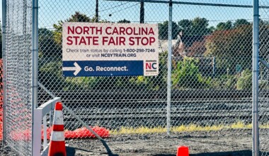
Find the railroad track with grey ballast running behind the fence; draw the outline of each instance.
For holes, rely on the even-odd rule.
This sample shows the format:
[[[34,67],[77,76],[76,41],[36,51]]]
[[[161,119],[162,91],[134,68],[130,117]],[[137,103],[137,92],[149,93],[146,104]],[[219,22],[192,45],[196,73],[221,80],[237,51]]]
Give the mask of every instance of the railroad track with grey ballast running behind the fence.
[[[121,126],[165,126],[166,92],[162,91],[52,91],[89,125],[108,128]],[[267,94],[265,94],[267,95]],[[251,91],[173,91],[171,123],[173,126],[197,123],[251,123]],[[51,99],[40,93],[40,101]],[[263,96],[263,117],[269,118],[269,98]],[[64,121],[77,127],[74,116],[64,111]],[[76,125],[76,126],[74,126]]]

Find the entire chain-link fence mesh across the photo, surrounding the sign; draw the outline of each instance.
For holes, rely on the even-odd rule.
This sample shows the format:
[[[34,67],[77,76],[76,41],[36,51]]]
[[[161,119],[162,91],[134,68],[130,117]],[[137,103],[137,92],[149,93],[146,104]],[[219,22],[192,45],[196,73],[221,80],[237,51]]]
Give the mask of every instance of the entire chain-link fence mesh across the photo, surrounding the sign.
[[[7,134],[11,130],[23,134],[31,127],[30,3],[7,1]],[[261,1],[261,6],[260,51],[263,60],[269,61],[269,4]],[[39,0],[38,13],[38,81],[54,96],[61,97],[63,104],[99,135],[107,136],[109,130],[107,142],[113,152],[174,154],[178,145],[188,145],[190,153],[251,155],[252,1],[175,0],[170,6],[171,40],[168,1]],[[159,74],[64,77],[62,38],[67,22],[91,23],[89,26],[158,24]],[[73,57],[70,59],[79,55]],[[149,55],[144,57],[151,59]],[[262,155],[268,155],[269,73],[262,65],[260,69],[260,150]],[[39,89],[39,105],[49,99],[52,96]],[[89,135],[67,110],[64,124],[66,130],[73,130],[67,138]],[[167,126],[171,135],[166,135]],[[8,145],[28,155],[25,149],[31,148],[30,138],[18,142],[12,139],[7,135]],[[84,151],[104,152],[98,140],[90,142],[91,145],[88,140],[67,140],[70,146]]]

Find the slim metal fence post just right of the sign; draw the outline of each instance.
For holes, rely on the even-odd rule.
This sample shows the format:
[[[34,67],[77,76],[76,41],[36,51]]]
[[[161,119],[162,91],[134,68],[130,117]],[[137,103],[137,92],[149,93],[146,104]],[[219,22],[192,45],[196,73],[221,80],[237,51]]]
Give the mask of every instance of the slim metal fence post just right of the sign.
[[[171,72],[172,72],[172,0],[169,3],[168,22],[168,72],[167,72],[167,134],[170,135],[171,127]]]

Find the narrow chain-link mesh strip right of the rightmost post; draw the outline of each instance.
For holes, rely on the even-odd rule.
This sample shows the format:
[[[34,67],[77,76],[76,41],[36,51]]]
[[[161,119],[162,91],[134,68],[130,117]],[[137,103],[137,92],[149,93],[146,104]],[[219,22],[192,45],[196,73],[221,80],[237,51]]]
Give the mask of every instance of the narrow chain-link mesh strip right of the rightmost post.
[[[260,6],[268,6],[268,1],[260,1]],[[259,23],[259,38],[260,38],[260,60],[268,62],[268,8],[260,9]],[[259,130],[260,130],[260,151],[261,156],[269,155],[269,129],[268,129],[268,69],[260,63],[259,66]]]

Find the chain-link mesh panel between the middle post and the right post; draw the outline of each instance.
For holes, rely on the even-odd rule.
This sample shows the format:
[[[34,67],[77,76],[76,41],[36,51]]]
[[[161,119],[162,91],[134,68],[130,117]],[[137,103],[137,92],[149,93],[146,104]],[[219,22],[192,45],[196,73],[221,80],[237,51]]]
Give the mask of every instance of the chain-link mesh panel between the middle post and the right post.
[[[173,126],[219,126],[222,149],[244,152],[251,143],[230,146],[231,136],[225,135],[248,133],[241,139],[251,140],[252,8],[243,8],[244,1],[222,4],[227,6],[173,6],[178,44],[173,46],[171,121]],[[179,18],[178,12],[183,13]]]

